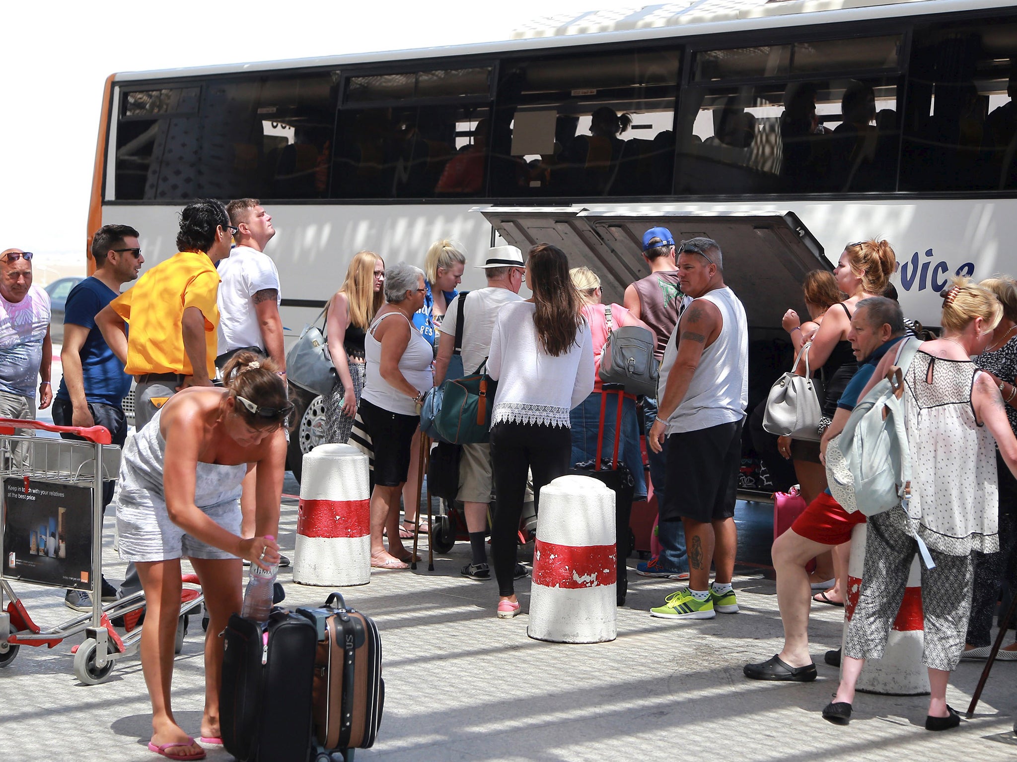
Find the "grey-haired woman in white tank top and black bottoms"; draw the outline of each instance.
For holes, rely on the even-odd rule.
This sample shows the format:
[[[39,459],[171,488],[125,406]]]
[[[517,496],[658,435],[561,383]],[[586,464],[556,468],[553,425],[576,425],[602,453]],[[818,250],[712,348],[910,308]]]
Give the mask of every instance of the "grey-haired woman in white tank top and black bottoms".
[[[360,395],[360,416],[374,444],[371,566],[376,569],[409,566],[410,554],[399,535],[399,496],[410,469],[410,442],[420,424],[420,402],[433,385],[434,355],[412,323],[426,291],[419,267],[400,262],[388,269],[385,305],[364,336],[367,382]],[[387,551],[382,527],[388,534]]]

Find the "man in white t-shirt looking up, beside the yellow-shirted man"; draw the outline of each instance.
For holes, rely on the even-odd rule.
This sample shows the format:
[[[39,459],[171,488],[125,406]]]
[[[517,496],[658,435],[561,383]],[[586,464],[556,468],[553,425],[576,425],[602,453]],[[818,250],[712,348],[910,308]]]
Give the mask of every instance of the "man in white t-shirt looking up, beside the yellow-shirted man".
[[[238,352],[247,350],[272,358],[283,377],[286,374],[286,352],[283,348],[283,321],[279,305],[283,301],[279,288],[279,270],[264,247],[276,235],[272,215],[256,198],[238,198],[226,206],[230,224],[237,229],[233,237],[236,246],[230,256],[219,263],[219,357],[220,370]],[[243,522],[241,536],[254,536],[254,469],[244,479],[240,496]],[[246,562],[244,562],[246,564]],[[289,566],[285,556],[280,566]]]

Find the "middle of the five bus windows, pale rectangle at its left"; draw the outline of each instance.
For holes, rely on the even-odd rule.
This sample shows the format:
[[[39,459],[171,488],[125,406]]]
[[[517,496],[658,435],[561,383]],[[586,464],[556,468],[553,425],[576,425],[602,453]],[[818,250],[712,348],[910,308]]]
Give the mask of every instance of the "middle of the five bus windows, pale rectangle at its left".
[[[491,193],[670,193],[677,51],[503,61]]]

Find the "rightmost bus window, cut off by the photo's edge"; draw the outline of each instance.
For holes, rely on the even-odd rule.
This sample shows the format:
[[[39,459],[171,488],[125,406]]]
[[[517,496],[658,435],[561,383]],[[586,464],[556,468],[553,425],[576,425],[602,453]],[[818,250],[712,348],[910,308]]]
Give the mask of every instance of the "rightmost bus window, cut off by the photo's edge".
[[[1017,188],[1017,23],[918,27],[904,120],[904,190]]]

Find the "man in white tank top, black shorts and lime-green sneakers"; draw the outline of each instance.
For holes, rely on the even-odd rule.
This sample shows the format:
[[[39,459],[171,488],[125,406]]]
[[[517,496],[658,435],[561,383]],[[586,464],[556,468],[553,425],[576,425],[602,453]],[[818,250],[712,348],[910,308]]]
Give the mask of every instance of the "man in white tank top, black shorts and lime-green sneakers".
[[[678,283],[693,301],[664,351],[659,407],[649,438],[650,447],[667,456],[660,522],[683,522],[690,578],[687,588],[650,613],[713,619],[718,611],[738,611],[731,576],[741,427],[749,404],[749,323],[741,302],[724,284],[716,241],[682,242],[677,265]],[[711,564],[717,567],[713,584]]]

